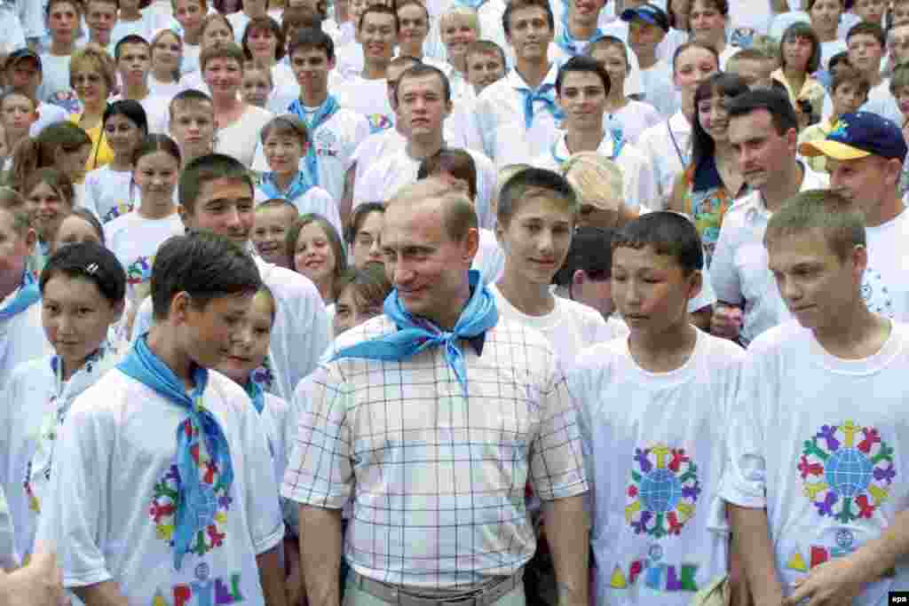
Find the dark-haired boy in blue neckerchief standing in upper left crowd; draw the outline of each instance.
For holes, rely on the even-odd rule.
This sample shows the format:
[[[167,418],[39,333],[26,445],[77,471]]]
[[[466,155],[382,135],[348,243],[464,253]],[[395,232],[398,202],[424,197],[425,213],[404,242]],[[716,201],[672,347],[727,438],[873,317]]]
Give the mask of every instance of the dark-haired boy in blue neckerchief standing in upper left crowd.
[[[287,54],[300,85],[300,96],[283,107],[270,106],[270,109],[275,114],[295,114],[304,121],[312,149],[300,163],[300,169],[310,171],[312,183],[340,201],[345,173],[357,145],[369,135],[369,123],[363,114],[343,106],[334,94],[329,94],[328,80],[335,69],[335,43],[329,35],[318,29],[300,31],[291,41]],[[267,170],[261,147],[253,168]]]

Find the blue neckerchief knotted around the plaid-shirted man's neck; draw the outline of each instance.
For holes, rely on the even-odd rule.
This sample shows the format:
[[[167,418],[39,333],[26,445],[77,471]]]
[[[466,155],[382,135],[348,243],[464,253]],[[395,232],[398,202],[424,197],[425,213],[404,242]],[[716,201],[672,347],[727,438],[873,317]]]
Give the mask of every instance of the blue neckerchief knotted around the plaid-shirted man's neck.
[[[421,318],[415,318],[401,303],[397,289],[386,298],[383,311],[395,324],[398,331],[386,334],[378,339],[357,343],[345,347],[332,356],[332,360],[340,358],[365,358],[367,360],[401,361],[436,346],[445,347],[445,361],[454,371],[454,376],[467,392],[467,369],[464,367],[464,354],[458,349],[459,339],[470,339],[485,333],[498,321],[499,313],[495,309],[493,293],[480,279],[480,273],[471,270],[470,287],[472,290],[470,301],[464,306],[461,317],[454,324],[454,330],[447,333],[434,323]]]

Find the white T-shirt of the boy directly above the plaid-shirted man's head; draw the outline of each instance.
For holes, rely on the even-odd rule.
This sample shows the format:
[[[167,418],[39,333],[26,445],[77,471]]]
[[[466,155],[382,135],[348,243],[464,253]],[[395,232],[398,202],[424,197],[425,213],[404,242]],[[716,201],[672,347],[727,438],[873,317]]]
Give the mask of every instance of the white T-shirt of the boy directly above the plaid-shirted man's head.
[[[492,229],[495,218],[491,212],[492,197],[495,190],[495,166],[478,152],[465,150],[474,158],[476,165],[476,215],[481,227]],[[402,187],[416,183],[416,174],[420,169],[420,161],[407,154],[406,146],[395,154],[382,157],[372,164],[369,170],[358,179],[354,188],[354,208],[365,202],[388,201]]]

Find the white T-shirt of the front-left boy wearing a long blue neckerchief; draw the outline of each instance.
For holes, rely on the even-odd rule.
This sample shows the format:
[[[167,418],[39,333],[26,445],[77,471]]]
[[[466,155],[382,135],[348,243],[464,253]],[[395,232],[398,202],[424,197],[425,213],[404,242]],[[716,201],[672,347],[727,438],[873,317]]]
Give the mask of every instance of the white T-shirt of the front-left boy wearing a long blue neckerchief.
[[[56,545],[65,587],[115,581],[135,604],[225,593],[265,604],[255,557],[284,536],[265,432],[249,396],[224,375],[209,373],[202,398],[225,433],[234,482],[225,489],[216,468],[202,474],[215,523],[195,538],[180,570],[169,540],[180,482],[175,434],[185,409],[118,370],[76,399],[38,530],[39,540]]]

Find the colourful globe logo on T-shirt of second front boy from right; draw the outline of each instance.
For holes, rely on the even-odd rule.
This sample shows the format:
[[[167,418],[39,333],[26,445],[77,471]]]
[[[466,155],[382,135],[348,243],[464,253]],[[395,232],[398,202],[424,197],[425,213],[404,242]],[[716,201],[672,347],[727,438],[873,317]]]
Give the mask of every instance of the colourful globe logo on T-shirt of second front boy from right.
[[[697,465],[684,448],[657,444],[635,449],[628,484],[625,522],[635,534],[660,539],[678,535],[694,516],[701,493]]]

